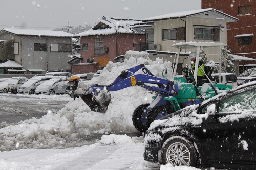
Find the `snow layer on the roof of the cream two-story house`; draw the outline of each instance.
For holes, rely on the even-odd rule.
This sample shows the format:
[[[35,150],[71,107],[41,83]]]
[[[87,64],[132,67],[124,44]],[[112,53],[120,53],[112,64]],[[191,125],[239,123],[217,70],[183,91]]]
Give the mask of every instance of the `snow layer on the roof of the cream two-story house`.
[[[235,18],[235,17],[233,17],[231,15],[228,15],[226,13],[223,13],[221,11],[218,11],[216,9],[213,9],[213,8],[191,10],[191,11],[182,11],[182,12],[174,12],[174,13],[169,13],[169,14],[165,14],[165,15],[145,18],[142,21],[153,21],[153,20],[163,20],[163,19],[175,19],[175,18],[182,18],[182,17],[191,17],[191,16],[195,16],[195,15],[200,15],[200,14],[203,14],[203,13],[206,13],[206,12],[207,13],[209,13],[209,12],[219,13],[221,15],[221,17],[223,17],[224,19],[227,19],[229,22],[238,21],[237,18]]]

